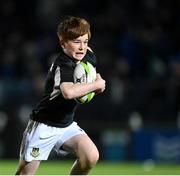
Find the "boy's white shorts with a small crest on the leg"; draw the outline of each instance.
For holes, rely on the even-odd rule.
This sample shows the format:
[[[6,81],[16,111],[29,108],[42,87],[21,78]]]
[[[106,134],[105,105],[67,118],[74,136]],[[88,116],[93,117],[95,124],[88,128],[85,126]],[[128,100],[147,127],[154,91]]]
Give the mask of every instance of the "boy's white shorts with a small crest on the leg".
[[[52,149],[66,155],[69,152],[62,150],[61,146],[78,134],[86,133],[76,122],[65,128],[57,128],[30,120],[23,134],[20,158],[27,162],[47,160]]]

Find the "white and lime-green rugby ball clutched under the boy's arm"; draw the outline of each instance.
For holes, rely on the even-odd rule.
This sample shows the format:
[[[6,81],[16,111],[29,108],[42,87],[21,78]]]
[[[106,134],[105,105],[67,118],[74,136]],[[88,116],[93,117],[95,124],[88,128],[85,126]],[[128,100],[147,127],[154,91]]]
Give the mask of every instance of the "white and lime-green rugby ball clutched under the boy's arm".
[[[74,70],[74,83],[91,83],[96,79],[96,69],[90,62],[79,62]],[[88,103],[95,93],[90,92],[82,97],[75,98],[80,104]]]

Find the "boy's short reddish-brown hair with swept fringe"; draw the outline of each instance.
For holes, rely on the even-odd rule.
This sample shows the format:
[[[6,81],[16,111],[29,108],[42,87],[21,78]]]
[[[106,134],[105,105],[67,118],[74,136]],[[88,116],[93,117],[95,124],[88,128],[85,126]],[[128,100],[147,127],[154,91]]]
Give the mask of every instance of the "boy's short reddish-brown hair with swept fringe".
[[[73,40],[85,34],[88,34],[90,39],[90,24],[84,18],[68,16],[58,25],[57,34],[64,41]]]

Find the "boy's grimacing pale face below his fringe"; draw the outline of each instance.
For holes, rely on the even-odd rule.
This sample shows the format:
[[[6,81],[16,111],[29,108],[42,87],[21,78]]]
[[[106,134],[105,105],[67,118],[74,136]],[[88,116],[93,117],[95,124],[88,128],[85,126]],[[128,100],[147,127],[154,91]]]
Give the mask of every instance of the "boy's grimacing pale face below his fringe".
[[[88,48],[88,34],[79,36],[62,44],[64,52],[71,58],[81,61],[86,55]]]

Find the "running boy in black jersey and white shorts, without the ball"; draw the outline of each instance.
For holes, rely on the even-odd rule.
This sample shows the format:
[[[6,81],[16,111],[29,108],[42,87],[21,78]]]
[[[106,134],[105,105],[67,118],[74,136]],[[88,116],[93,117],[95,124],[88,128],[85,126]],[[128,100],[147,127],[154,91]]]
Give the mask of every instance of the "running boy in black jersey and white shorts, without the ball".
[[[60,51],[47,74],[44,96],[24,131],[16,175],[34,175],[52,149],[77,157],[70,175],[88,174],[99,158],[95,144],[74,121],[77,108],[74,98],[105,90],[105,80],[100,74],[92,83],[73,83],[73,72],[79,61],[96,65],[95,55],[88,47],[90,25],[83,18],[70,16],[58,25],[57,33]]]

